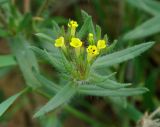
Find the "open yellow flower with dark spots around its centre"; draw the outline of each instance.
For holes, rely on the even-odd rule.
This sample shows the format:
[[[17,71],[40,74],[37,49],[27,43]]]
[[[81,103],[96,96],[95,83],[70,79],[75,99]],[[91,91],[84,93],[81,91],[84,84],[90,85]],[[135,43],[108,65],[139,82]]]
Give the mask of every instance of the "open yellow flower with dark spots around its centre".
[[[89,45],[87,48],[87,53],[91,56],[96,56],[99,54],[99,51],[95,45]]]

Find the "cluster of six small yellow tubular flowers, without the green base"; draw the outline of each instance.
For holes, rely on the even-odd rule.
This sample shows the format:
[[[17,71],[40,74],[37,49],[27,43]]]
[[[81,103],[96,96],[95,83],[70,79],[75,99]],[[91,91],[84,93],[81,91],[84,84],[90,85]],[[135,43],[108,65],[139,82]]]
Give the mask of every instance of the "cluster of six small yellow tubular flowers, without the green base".
[[[101,52],[101,50],[107,48],[107,42],[104,39],[97,40],[93,35],[93,33],[88,34],[87,41],[82,42],[80,38],[76,37],[76,28],[78,27],[78,23],[76,21],[69,21],[68,23],[68,29],[70,31],[70,39],[69,42],[65,41],[65,38],[63,36],[58,37],[55,40],[55,47],[62,48],[62,50],[69,49],[75,49],[75,54],[77,56],[81,54],[86,54],[86,60],[90,63],[96,56],[98,56]],[[88,45],[87,47],[85,47]],[[86,48],[86,50],[83,50]]]

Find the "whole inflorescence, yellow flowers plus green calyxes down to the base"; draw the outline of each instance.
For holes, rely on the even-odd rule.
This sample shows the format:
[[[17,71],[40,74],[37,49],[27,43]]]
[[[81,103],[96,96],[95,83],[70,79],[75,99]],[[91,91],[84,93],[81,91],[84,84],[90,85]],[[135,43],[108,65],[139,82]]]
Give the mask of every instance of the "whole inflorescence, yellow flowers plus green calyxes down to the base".
[[[82,38],[77,36],[77,27],[76,21],[69,21],[67,33],[57,37],[54,46],[59,48],[74,66],[70,71],[71,75],[79,80],[86,78],[90,65],[108,47],[107,39],[97,39],[91,32],[88,33],[87,39],[82,41]]]

